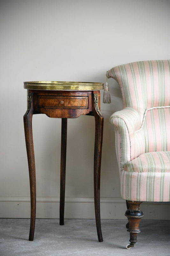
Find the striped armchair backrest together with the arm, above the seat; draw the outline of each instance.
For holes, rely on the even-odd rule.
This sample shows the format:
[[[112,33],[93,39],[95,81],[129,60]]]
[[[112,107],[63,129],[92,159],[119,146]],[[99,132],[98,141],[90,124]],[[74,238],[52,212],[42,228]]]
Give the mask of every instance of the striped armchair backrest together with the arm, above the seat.
[[[123,98],[123,110],[110,117],[120,169],[143,153],[170,151],[170,60],[120,65],[110,77]]]

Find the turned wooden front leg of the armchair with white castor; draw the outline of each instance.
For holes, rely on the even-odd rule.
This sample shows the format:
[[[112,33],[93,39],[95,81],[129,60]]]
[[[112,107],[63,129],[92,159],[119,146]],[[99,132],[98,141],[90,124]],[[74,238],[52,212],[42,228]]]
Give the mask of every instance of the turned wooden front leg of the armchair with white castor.
[[[137,242],[137,233],[140,232],[139,222],[144,214],[140,210],[140,204],[142,202],[127,201],[127,203],[129,203],[129,209],[125,212],[125,216],[128,218],[129,221],[129,228],[127,229],[127,231],[130,232],[130,244],[127,244],[126,248],[130,249],[131,247],[134,247]]]

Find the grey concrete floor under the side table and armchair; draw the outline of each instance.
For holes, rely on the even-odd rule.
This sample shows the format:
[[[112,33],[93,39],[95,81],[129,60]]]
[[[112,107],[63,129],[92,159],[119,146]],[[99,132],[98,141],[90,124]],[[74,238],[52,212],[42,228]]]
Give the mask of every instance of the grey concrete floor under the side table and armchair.
[[[95,220],[36,219],[34,241],[28,241],[29,219],[0,219],[0,256],[170,256],[170,220],[141,220],[138,242],[129,243],[126,220],[101,220],[98,242]]]

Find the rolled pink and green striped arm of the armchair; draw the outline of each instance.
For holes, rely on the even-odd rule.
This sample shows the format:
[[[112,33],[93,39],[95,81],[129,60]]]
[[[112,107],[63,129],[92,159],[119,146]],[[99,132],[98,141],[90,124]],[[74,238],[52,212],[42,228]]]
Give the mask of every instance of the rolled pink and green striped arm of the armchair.
[[[115,127],[116,155],[120,170],[124,164],[145,153],[144,131],[141,120],[133,108],[124,108],[110,116]]]

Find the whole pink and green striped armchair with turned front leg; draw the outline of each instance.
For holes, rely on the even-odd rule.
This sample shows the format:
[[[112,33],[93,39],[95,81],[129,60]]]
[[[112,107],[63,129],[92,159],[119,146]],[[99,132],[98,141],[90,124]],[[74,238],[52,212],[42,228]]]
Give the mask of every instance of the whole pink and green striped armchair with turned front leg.
[[[137,242],[142,202],[170,201],[170,60],[139,61],[111,68],[123,109],[115,127],[121,194],[126,199],[130,244]]]

